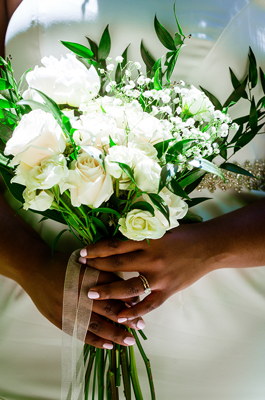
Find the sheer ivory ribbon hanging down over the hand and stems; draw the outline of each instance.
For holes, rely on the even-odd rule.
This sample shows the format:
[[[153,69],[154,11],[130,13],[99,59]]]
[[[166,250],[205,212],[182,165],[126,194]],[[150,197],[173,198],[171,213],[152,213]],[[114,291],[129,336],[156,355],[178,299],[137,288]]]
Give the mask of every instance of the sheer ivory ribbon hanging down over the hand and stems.
[[[92,302],[87,291],[97,282],[99,271],[86,267],[78,301],[81,265],[80,249],[68,261],[63,292],[61,400],[82,400],[84,391],[83,343],[87,332]]]

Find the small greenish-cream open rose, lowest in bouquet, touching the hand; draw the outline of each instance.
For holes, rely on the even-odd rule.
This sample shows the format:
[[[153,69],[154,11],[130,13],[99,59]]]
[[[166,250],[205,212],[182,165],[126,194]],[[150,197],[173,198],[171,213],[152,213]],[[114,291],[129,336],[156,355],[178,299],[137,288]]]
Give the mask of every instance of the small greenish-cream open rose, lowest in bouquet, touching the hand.
[[[165,233],[162,223],[149,211],[133,209],[125,218],[119,218],[120,232],[133,240],[158,239]]]

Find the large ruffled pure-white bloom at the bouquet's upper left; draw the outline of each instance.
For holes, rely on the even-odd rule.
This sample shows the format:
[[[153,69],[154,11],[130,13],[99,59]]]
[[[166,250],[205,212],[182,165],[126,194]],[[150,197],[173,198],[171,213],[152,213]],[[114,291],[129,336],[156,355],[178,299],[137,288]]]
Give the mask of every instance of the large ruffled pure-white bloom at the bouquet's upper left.
[[[41,63],[26,75],[29,88],[23,98],[43,101],[32,88],[51,97],[57,104],[69,104],[78,107],[80,103],[91,100],[100,88],[98,74],[93,65],[87,69],[75,55],[66,54],[60,60],[43,57]]]

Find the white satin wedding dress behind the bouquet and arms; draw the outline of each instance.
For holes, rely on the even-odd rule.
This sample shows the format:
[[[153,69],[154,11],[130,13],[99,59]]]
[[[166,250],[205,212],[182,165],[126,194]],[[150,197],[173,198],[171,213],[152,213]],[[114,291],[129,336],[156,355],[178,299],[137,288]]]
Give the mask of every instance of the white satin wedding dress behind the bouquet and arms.
[[[120,55],[131,43],[129,59],[140,60],[143,38],[158,57],[166,50],[155,36],[153,17],[156,12],[173,34],[172,9],[173,0],[23,0],[8,25],[6,54],[12,55],[18,76],[44,55],[65,54],[58,40],[86,45],[84,36],[89,36],[98,43],[109,23],[110,55]],[[242,79],[249,45],[265,70],[265,0],[179,0],[176,13],[184,33],[192,37],[180,53],[175,79],[200,84],[223,102],[232,91],[228,66]],[[257,88],[256,98],[260,96]],[[233,107],[232,115],[244,115],[242,102]],[[236,154],[239,163],[246,159],[265,159],[265,135]],[[262,191],[219,188],[194,195],[213,197],[196,207],[204,219],[264,197]],[[28,212],[26,218],[31,217]],[[34,225],[46,241],[60,229],[47,221]],[[144,320],[148,340],[143,345],[157,400],[264,400],[265,267],[213,271]],[[58,400],[60,343],[59,329],[38,312],[21,287],[0,277],[0,399]],[[147,400],[140,359],[138,366]]]

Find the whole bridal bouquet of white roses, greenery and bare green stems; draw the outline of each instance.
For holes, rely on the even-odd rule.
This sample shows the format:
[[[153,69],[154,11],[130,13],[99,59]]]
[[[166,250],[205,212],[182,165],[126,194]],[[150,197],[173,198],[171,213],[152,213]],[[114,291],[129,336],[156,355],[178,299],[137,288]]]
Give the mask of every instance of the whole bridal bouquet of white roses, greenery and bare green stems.
[[[186,38],[176,22],[172,38],[155,17],[157,36],[169,51],[163,63],[162,58],[155,61],[142,43],[146,73],[138,61],[127,61],[127,49],[115,59],[108,57],[108,27],[98,46],[88,38],[91,49],[62,42],[71,53],[59,60],[42,58],[43,66],[26,71],[18,83],[10,60],[0,59],[0,172],[24,209],[67,225],[52,250],[67,229],[82,245],[113,236],[157,239],[181,218],[197,220],[188,207],[205,198],[189,195],[206,173],[223,178],[222,169],[228,169],[253,176],[227,162],[227,149],[237,151],[260,129],[264,97],[256,106],[249,95],[250,113],[236,121],[227,110],[241,96],[248,97],[247,82],[249,90],[256,84],[254,55],[250,50],[249,74],[242,83],[231,71],[234,91],[221,105],[204,89],[170,80]],[[212,163],[217,155],[225,161],[220,167]],[[149,361],[133,334],[153,399]],[[103,398],[101,372],[107,357],[115,378],[113,383],[108,373],[107,398],[118,398],[120,365],[126,399],[131,398],[130,380],[135,398],[142,398],[133,350],[128,355],[126,347],[116,345],[111,351],[98,356],[94,347],[85,346],[86,398],[92,363],[99,358],[98,398]]]

